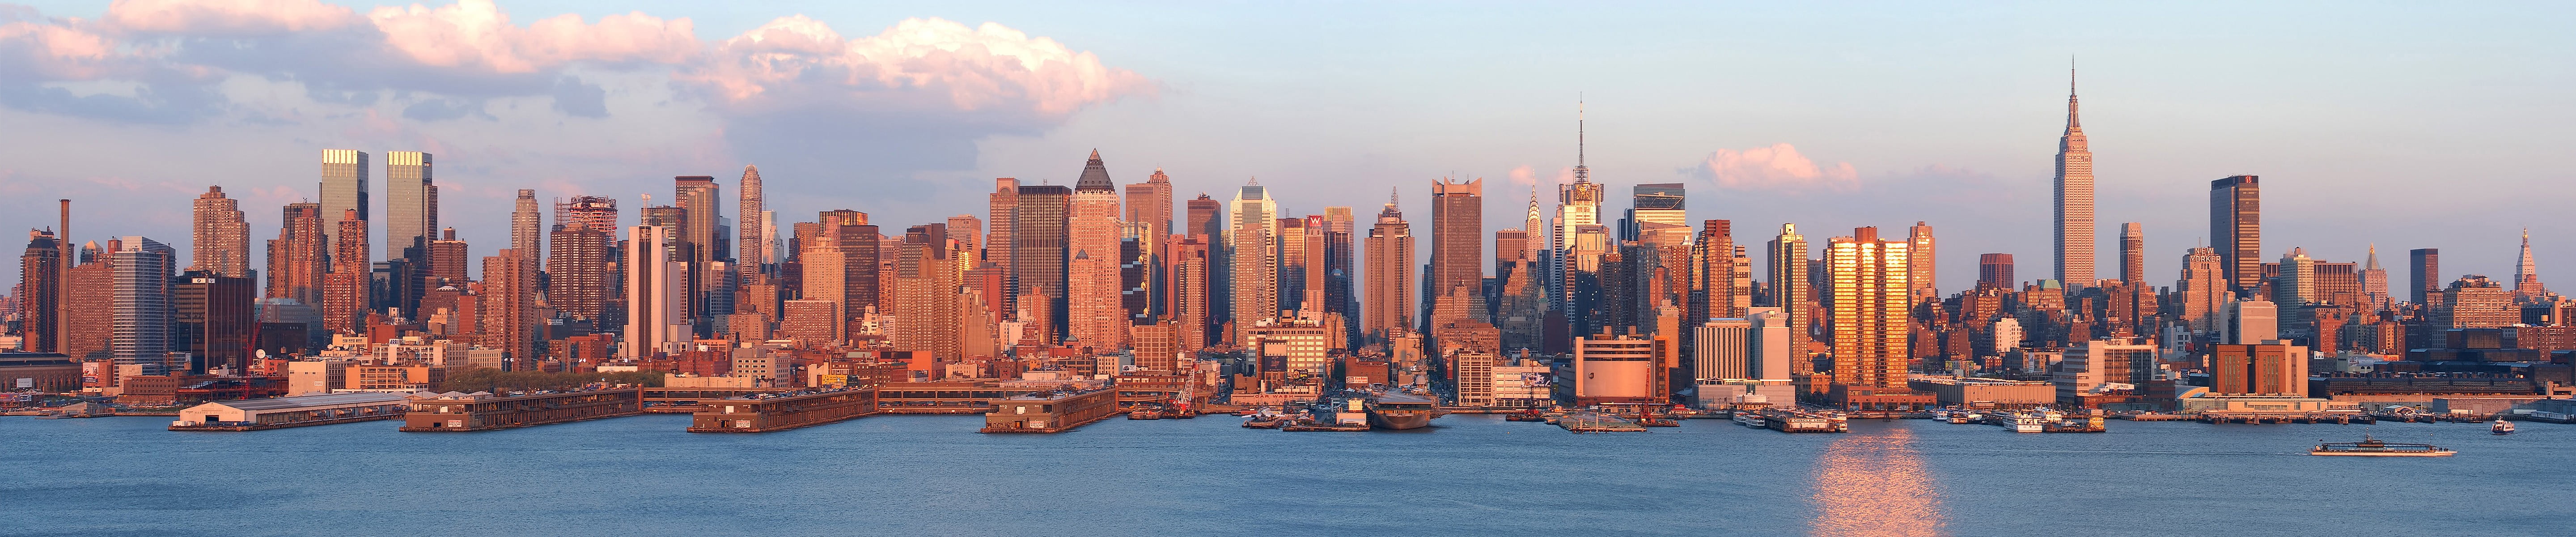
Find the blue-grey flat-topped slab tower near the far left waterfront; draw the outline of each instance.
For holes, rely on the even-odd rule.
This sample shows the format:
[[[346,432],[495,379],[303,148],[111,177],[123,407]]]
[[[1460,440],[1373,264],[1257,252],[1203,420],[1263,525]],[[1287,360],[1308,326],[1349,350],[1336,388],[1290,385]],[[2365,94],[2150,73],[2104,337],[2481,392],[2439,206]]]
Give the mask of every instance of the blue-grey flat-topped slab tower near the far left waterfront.
[[[108,354],[116,364],[147,364],[144,374],[173,367],[170,359],[170,268],[178,256],[149,238],[116,238],[108,253],[116,274]],[[185,364],[178,364],[185,367]]]

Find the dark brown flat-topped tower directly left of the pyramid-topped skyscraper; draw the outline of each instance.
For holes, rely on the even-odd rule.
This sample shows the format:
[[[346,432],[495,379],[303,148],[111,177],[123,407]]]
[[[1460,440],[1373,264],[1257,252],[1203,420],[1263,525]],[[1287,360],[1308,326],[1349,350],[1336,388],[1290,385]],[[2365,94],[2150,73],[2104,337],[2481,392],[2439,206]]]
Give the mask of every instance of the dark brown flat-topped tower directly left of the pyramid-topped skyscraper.
[[[1064,341],[1064,284],[1066,266],[1072,258],[1069,222],[1074,204],[1074,188],[1064,186],[1020,186],[1020,199],[1010,209],[1010,276],[1012,289],[1020,299],[1046,297],[1046,305],[1015,305],[1020,310],[1046,312],[1046,330],[1038,341],[1054,343]]]

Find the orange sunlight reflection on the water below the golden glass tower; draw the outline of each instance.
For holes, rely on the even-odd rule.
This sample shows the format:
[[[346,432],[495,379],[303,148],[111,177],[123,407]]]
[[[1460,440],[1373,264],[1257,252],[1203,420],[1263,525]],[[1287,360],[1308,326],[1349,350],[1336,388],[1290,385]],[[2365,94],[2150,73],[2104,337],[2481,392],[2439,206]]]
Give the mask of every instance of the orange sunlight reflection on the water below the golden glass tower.
[[[1940,488],[1914,452],[1914,434],[1886,429],[1844,434],[1816,465],[1811,534],[1929,537],[1942,534]]]

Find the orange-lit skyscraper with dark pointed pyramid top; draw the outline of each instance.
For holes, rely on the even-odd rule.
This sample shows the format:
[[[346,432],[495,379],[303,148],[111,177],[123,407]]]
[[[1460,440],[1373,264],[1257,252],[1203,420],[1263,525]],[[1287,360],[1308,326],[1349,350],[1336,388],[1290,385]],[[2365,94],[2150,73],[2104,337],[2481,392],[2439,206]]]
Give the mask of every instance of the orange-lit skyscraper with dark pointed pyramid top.
[[[1082,163],[1066,217],[1066,336],[1092,349],[1126,346],[1128,323],[1118,289],[1118,183],[1100,150]]]

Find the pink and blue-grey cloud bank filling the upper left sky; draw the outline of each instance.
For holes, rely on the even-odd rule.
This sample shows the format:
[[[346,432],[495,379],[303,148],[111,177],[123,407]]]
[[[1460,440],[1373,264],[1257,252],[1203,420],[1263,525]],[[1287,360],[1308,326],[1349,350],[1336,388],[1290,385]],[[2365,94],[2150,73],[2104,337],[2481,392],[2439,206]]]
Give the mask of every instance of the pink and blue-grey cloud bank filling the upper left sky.
[[[1128,96],[1144,75],[1046,36],[907,18],[873,36],[783,15],[701,41],[688,18],[647,13],[515,21],[492,0],[381,5],[317,0],[116,0],[106,15],[0,10],[0,106],[121,124],[294,124],[389,103],[410,121],[495,119],[505,98],[556,119],[670,103],[711,114],[742,155],[878,152],[889,168],[966,168],[974,139],[1036,134]],[[618,77],[662,77],[621,101]],[[252,106],[229,83],[301,88],[309,103]],[[296,108],[307,116],[273,111]],[[392,111],[392,108],[389,108]],[[881,160],[884,163],[884,160]]]

